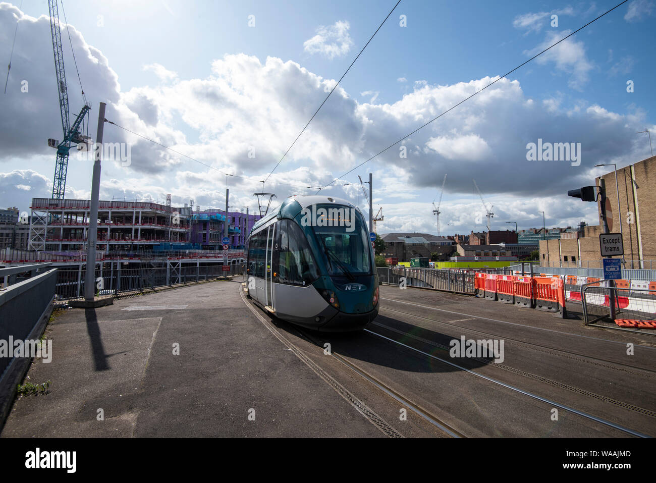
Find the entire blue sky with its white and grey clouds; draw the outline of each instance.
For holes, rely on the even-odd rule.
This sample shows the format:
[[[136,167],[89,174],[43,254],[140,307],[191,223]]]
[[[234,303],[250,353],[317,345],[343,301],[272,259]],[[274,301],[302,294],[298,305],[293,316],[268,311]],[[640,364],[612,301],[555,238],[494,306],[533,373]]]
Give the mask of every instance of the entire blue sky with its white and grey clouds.
[[[10,27],[16,20],[9,5],[2,5],[0,58],[9,58]],[[391,1],[64,3],[68,22],[76,30],[72,35],[74,45],[79,43],[76,56],[93,103],[93,125],[97,103],[109,100],[108,118],[163,144],[174,144],[216,169],[256,179],[272,169],[323,100],[323,89],[308,85],[338,79],[393,5]],[[273,180],[323,186],[440,109],[480,89],[489,82],[487,77],[504,74],[541,45],[560,39],[614,5],[401,1],[340,84],[343,91],[331,96]],[[24,5],[23,11],[39,18],[47,14],[47,2]],[[400,26],[401,14],[407,18],[405,27]],[[557,27],[551,26],[552,14],[558,15]],[[255,27],[249,27],[249,15],[255,16]],[[60,17],[63,20],[61,11]],[[495,205],[493,229],[507,228],[505,221],[518,221],[520,228],[541,226],[537,213],[541,209],[547,211],[550,226],[584,219],[596,222],[592,203],[567,200],[564,193],[592,184],[594,175],[604,172],[594,168],[598,162],[626,165],[649,156],[646,135],[634,133],[656,131],[656,96],[650,83],[656,74],[650,53],[655,19],[653,1],[626,3],[571,37],[558,51],[514,72],[508,82],[499,82],[493,95],[476,96],[477,102],[472,99],[470,105],[463,104],[407,140],[408,158],[400,159],[395,147],[336,184],[375,173],[375,204],[386,214],[381,232],[435,232],[430,202],[444,173],[449,177],[442,202],[443,225],[448,223],[442,226],[443,233],[482,228],[478,213],[482,205],[472,178],[488,204]],[[52,51],[44,27],[43,21],[20,22],[12,75],[43,77],[43,92],[35,93],[43,100],[41,117],[56,121]],[[335,32],[337,38],[331,38]],[[327,38],[312,44],[313,50],[308,41],[315,35]],[[331,43],[337,54],[325,49]],[[85,53],[83,46],[91,53]],[[95,49],[106,58],[107,70],[98,68]],[[81,99],[73,95],[79,89],[70,48],[64,55],[73,112],[79,110]],[[267,62],[268,57],[279,62]],[[21,64],[21,59],[26,62]],[[163,69],[144,70],[155,64]],[[633,93],[626,92],[628,80],[634,83]],[[276,87],[268,89],[262,83]],[[33,106],[33,100],[8,95],[14,98],[3,99],[5,112],[24,117],[31,131],[42,130],[34,133],[35,138],[58,133],[56,124],[49,127],[45,121],[32,126],[38,113],[28,116],[26,106]],[[149,116],[155,116],[150,123]],[[253,132],[247,133],[251,127]],[[106,129],[106,136],[112,133]],[[140,194],[161,199],[173,192],[174,202],[195,198],[203,208],[222,205],[225,177],[215,177],[216,172],[179,156],[150,152],[150,146],[123,134],[115,133],[115,140],[134,143],[133,156],[138,159],[127,168],[104,168],[104,196]],[[14,142],[16,135],[6,135],[3,142]],[[579,167],[529,163],[523,159],[525,144],[537,138],[581,142],[583,163]],[[257,148],[256,162],[243,156],[244,146],[251,143]],[[217,150],[223,156],[216,156]],[[260,156],[263,151],[266,154]],[[142,159],[148,162],[140,163]],[[25,209],[31,196],[47,196],[53,166],[54,151],[37,142],[33,150],[5,150],[0,158],[5,177],[0,179],[6,186],[0,185],[0,203],[20,201]],[[91,167],[71,166],[69,194],[88,196]],[[252,203],[255,186],[231,186],[236,204]],[[271,189],[281,198],[295,194],[281,185]],[[364,208],[359,186],[331,189]]]

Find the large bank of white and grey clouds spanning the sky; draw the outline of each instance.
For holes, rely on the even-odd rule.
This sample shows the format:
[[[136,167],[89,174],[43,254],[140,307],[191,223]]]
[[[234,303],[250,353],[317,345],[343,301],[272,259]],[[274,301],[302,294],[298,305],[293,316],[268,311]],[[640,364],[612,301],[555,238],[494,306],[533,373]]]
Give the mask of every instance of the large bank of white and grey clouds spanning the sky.
[[[16,21],[12,13],[16,11],[6,3],[0,5],[0,58],[9,58]],[[45,139],[55,137],[61,128],[52,56],[38,40],[50,35],[48,18],[25,16],[21,22],[19,29],[27,40],[16,44],[0,116],[0,206],[26,209],[31,197],[51,194],[54,151],[45,146]],[[213,167],[106,125],[106,140],[133,145],[133,163],[129,167],[103,166],[100,196],[104,199],[139,196],[163,200],[171,193],[174,204],[194,198],[203,208],[221,207],[224,173],[232,173],[255,180],[228,177],[230,204],[253,207],[251,194],[262,189],[257,180],[268,175],[314,114],[325,98],[324,88],[335,83],[291,60],[234,54],[216,59],[206,77],[173,79],[163,75],[154,85],[123,91],[110,61],[85,43],[78,31],[72,29],[71,34],[82,78],[89,79],[85,81],[87,96],[94,103],[108,102],[108,119]],[[573,68],[560,57],[550,62],[558,69],[559,60]],[[163,66],[162,72],[169,71]],[[29,94],[20,93],[17,79],[30,80]],[[492,80],[483,77],[451,85],[419,81],[408,87],[411,92],[386,104],[377,103],[377,98],[371,97],[373,92],[361,103],[360,93],[350,94],[338,87],[272,175],[266,190],[276,192],[278,201],[291,194],[313,193],[315,190],[275,183],[324,186]],[[81,99],[70,91],[72,110],[77,110]],[[527,98],[519,81],[500,79],[406,139],[407,158],[400,158],[399,146],[393,146],[321,193],[354,202],[359,197],[364,207],[359,184],[342,184],[357,182],[358,174],[365,177],[373,171],[375,198],[385,210],[385,229],[430,232],[434,230],[430,200],[448,173],[443,219],[452,223],[451,232],[469,232],[472,227],[471,215],[480,205],[473,195],[472,177],[486,201],[495,205],[500,219],[507,216],[504,219],[531,222],[531,213],[546,206],[554,222],[570,220],[578,216],[580,203],[570,208],[566,202],[553,200],[564,201],[568,189],[590,184],[595,163],[621,165],[642,159],[648,146],[634,132],[642,131],[644,125],[644,114],[609,112],[583,99],[571,105],[558,96]],[[30,127],[29,136],[25,126]],[[581,142],[581,166],[526,161],[527,142],[538,138]],[[249,157],[251,148],[255,158]],[[43,169],[21,169],[26,165]],[[84,175],[71,180],[75,173]],[[87,198],[90,178],[90,165],[71,164],[67,196]],[[18,185],[31,190],[16,188]],[[461,213],[463,209],[468,211]]]

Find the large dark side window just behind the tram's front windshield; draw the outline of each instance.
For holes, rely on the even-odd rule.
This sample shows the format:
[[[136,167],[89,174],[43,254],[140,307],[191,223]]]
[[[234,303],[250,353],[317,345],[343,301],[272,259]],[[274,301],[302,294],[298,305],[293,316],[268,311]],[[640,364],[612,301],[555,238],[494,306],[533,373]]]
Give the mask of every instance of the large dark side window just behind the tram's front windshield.
[[[309,285],[319,276],[308,241],[300,227],[289,220],[280,224],[278,270],[283,284]]]

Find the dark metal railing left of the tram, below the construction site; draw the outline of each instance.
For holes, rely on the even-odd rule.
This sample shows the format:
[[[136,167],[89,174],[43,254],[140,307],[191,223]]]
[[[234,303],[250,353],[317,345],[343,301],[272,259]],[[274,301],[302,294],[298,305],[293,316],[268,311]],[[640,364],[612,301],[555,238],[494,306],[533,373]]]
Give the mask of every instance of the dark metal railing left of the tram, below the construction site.
[[[119,265],[120,266],[120,265]],[[118,268],[101,270],[96,268],[96,294],[119,295],[119,293],[155,289],[167,285],[189,284],[212,280],[223,276],[239,275],[244,272],[244,264],[196,266],[161,266],[144,268]],[[79,299],[84,296],[86,269],[60,268],[55,289],[56,303]]]

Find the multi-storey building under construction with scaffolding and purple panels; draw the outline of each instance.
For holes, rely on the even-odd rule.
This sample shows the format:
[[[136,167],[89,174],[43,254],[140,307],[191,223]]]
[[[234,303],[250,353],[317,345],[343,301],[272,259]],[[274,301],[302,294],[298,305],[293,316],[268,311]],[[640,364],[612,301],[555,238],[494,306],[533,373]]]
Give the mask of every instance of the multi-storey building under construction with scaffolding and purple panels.
[[[91,200],[33,198],[30,245],[33,251],[85,250]],[[259,217],[228,212],[231,248],[242,248]],[[222,248],[226,215],[220,210],[192,212],[152,200],[98,201],[98,253],[157,253]]]

